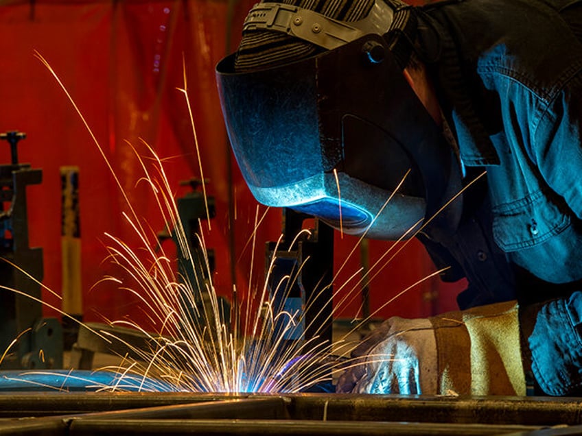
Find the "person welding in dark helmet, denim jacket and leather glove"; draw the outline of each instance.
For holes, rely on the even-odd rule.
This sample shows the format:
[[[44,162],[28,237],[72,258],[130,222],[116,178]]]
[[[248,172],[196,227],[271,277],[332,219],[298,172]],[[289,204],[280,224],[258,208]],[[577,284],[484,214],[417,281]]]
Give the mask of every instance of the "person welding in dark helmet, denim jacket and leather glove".
[[[581,39],[578,0],[248,13],[217,79],[257,200],[417,237],[443,280],[468,283],[459,311],[364,338],[338,391],[524,395],[531,376],[582,392]]]

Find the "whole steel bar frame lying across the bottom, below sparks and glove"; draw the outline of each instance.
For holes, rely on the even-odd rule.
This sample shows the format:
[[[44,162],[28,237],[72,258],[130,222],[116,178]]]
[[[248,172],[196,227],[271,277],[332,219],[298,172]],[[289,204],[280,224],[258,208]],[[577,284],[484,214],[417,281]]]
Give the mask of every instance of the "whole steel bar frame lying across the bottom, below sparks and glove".
[[[0,435],[582,435],[582,399],[0,393]]]

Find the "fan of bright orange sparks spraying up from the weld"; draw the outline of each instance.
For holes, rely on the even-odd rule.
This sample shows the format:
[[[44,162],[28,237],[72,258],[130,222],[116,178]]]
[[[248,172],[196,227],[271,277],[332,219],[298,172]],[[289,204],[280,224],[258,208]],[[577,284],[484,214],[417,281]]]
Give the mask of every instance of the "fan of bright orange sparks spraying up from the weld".
[[[36,53],[35,56],[54,75],[82,123],[84,123],[86,130],[91,135],[97,149],[99,149],[105,164],[119,187],[121,195],[126,200],[128,212],[123,214],[124,222],[132,229],[132,232],[135,233],[140,241],[140,247],[136,249],[114,235],[106,234],[109,241],[108,259],[117,265],[129,280],[106,276],[102,281],[113,282],[119,289],[130,292],[139,298],[143,306],[147,308],[155,330],[154,332],[148,331],[143,326],[139,326],[130,320],[111,322],[113,326],[132,328],[141,332],[150,343],[148,349],[135,348],[130,343],[116,337],[115,333],[93,330],[93,333],[104,341],[124,343],[128,352],[137,356],[132,358],[128,355],[120,365],[103,368],[103,370],[115,374],[115,378],[110,383],[100,385],[102,389],[125,390],[137,387],[137,389],[143,391],[294,392],[302,391],[318,383],[329,383],[345,367],[362,364],[361,361],[356,363],[356,361],[338,357],[339,355],[349,355],[349,352],[358,345],[347,340],[350,333],[335,343],[321,343],[317,341],[317,335],[323,332],[324,326],[317,326],[316,337],[310,341],[289,343],[284,339],[292,336],[290,334],[299,328],[303,330],[304,326],[302,324],[305,322],[305,311],[309,311],[312,308],[306,307],[301,313],[299,310],[295,312],[283,311],[281,308],[276,307],[274,302],[278,301],[278,299],[280,300],[281,296],[286,298],[290,291],[290,284],[296,280],[304,263],[308,262],[309,259],[305,259],[304,263],[299,265],[296,271],[292,271],[290,276],[283,277],[275,290],[268,288],[269,277],[265,279],[264,284],[261,284],[260,287],[249,281],[249,295],[247,298],[237,298],[234,316],[236,321],[233,323],[236,328],[226,325],[222,317],[220,302],[211,280],[208,259],[204,256],[201,261],[202,265],[198,265],[198,258],[191,252],[187,235],[181,219],[178,217],[178,209],[172,195],[171,186],[165,175],[162,160],[156,155],[154,149],[145,142],[139,144],[139,148],[143,152],[139,152],[137,147],[129,144],[143,172],[139,183],[146,184],[149,187],[151,195],[153,195],[159,206],[159,213],[163,217],[165,225],[167,228],[173,229],[173,236],[178,247],[178,258],[182,262],[181,269],[176,266],[176,260],[165,254],[157,243],[156,235],[150,230],[148,223],[132,208],[121,182],[115,175],[112,165],[108,162],[99,141],[91,131],[89,123],[84,119],[82,112],[58,78],[58,75],[39,53]],[[188,99],[185,78],[183,88],[178,88],[178,90],[185,95],[187,101],[194,143],[198,161],[200,162],[198,139],[196,138],[196,129],[194,128],[194,119]],[[202,175],[201,163],[200,174]],[[337,174],[335,173],[335,175],[339,196],[340,185]],[[404,182],[407,175],[408,173],[404,176],[402,182]],[[202,189],[206,200],[203,175]],[[389,201],[390,198],[387,199],[386,204]],[[382,213],[386,204],[378,211],[378,215]],[[206,207],[207,215],[209,216],[207,202]],[[339,207],[341,212],[341,202]],[[256,229],[265,217],[264,214],[259,215],[259,208],[257,208],[255,232],[247,242],[247,245],[252,245],[251,256],[254,256],[255,252]],[[210,230],[210,219],[207,221]],[[409,232],[412,232],[412,229],[417,227],[417,224],[415,223]],[[423,226],[426,226],[426,223]],[[366,232],[364,232],[362,238],[365,237],[365,234]],[[296,240],[299,239],[299,236],[297,235]],[[367,278],[367,275],[378,274],[408,243],[408,241],[404,241],[404,243],[402,241],[409,236],[404,234],[399,241],[395,241],[386,254],[369,271],[366,271],[366,276],[362,277],[351,291],[336,302],[333,309],[334,313],[342,311],[346,304],[349,304],[353,298],[360,295],[357,292],[358,285]],[[292,241],[290,247],[296,243],[296,240]],[[360,239],[361,241],[362,239]],[[281,239],[277,244],[280,242]],[[358,245],[360,242],[358,242]],[[198,243],[201,252],[206,254],[207,250],[202,232],[198,234]],[[349,253],[340,270],[347,265],[348,259],[356,252],[358,245]],[[277,252],[277,250],[273,252]],[[384,258],[392,252],[394,253],[388,261],[382,263]],[[274,265],[275,258],[272,258],[268,268],[269,276],[272,274]],[[16,267],[16,265],[13,266]],[[423,278],[423,280],[428,280],[440,272],[436,271]],[[338,273],[336,273],[336,277]],[[351,278],[359,273],[360,271],[356,271]],[[249,280],[251,280],[251,277],[252,274],[249,275]],[[412,284],[397,296],[417,286],[423,280]],[[318,292],[325,291],[329,285],[321,284],[321,289]],[[339,295],[339,292],[345,289],[346,285],[347,283],[336,290],[334,296]],[[18,290],[14,291],[19,292]],[[389,302],[386,302],[386,304]],[[237,328],[240,313],[246,313],[244,321],[246,327],[242,329]],[[375,313],[377,311],[369,316],[373,316]],[[67,314],[63,313],[63,315]],[[332,315],[333,313],[330,317]],[[315,318],[318,319],[319,317]],[[75,320],[74,318],[71,319]],[[325,322],[331,323],[331,319],[326,319]],[[275,326],[280,326],[280,328],[275,328]],[[14,343],[17,340],[18,338],[14,340]],[[5,350],[2,358],[8,352],[9,350]],[[388,358],[390,356],[371,356],[369,362],[382,361]],[[87,380],[87,383],[91,384],[91,380]]]

